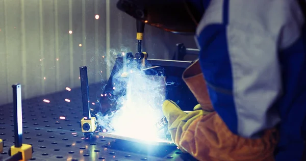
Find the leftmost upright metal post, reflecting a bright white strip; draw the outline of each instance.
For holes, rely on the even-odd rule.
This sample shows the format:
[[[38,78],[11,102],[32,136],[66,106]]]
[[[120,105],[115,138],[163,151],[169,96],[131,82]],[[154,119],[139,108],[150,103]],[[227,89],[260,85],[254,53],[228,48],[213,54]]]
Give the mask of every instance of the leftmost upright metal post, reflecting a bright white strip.
[[[13,88],[14,105],[14,135],[15,147],[22,146],[22,107],[21,107],[21,85],[16,84]]]

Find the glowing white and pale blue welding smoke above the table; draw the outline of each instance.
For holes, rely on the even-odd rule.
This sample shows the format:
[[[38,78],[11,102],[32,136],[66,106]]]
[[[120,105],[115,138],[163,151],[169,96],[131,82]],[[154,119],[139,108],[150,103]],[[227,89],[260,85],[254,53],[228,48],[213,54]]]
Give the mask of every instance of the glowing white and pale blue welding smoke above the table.
[[[123,88],[126,88],[126,93],[116,98],[117,111],[106,116],[96,115],[98,123],[108,132],[120,136],[142,140],[160,138],[155,124],[163,117],[165,77],[161,73],[147,75],[145,70],[135,66],[124,67],[113,79],[120,82],[113,84],[113,93],[120,96]]]

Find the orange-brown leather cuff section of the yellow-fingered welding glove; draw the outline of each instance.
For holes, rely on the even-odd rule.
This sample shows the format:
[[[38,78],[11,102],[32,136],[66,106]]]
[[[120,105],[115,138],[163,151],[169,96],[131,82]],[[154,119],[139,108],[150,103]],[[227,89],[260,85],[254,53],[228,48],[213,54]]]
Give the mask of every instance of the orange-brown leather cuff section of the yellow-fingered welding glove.
[[[188,114],[189,115],[189,114]],[[202,115],[183,128],[179,147],[198,160],[274,160],[277,144],[275,129],[266,130],[259,139],[232,133],[216,112]]]

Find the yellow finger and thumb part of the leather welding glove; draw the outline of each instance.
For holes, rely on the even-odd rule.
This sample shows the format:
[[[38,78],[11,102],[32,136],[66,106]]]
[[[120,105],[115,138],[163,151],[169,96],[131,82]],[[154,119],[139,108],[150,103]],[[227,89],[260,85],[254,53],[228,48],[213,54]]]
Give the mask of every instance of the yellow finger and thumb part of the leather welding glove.
[[[194,106],[193,110],[193,112],[187,114],[172,100],[166,100],[163,103],[163,113],[168,120],[168,130],[171,139],[183,152],[185,152],[185,149],[180,146],[182,132],[199,116],[211,113],[202,110],[200,104]]]

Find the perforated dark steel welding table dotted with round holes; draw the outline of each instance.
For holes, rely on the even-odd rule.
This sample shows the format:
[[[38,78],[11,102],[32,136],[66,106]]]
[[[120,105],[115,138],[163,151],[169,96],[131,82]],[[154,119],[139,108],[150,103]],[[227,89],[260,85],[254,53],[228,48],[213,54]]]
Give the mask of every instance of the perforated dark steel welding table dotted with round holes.
[[[96,89],[99,89],[96,85],[89,88],[91,99],[96,97]],[[81,89],[24,100],[22,108],[23,143],[34,148],[31,160],[195,160],[175,146],[149,146],[103,138],[98,132],[92,140],[84,139],[80,128]],[[60,119],[61,116],[65,119]],[[1,160],[8,157],[8,149],[13,145],[13,126],[12,104],[0,106],[0,138],[5,145]]]

